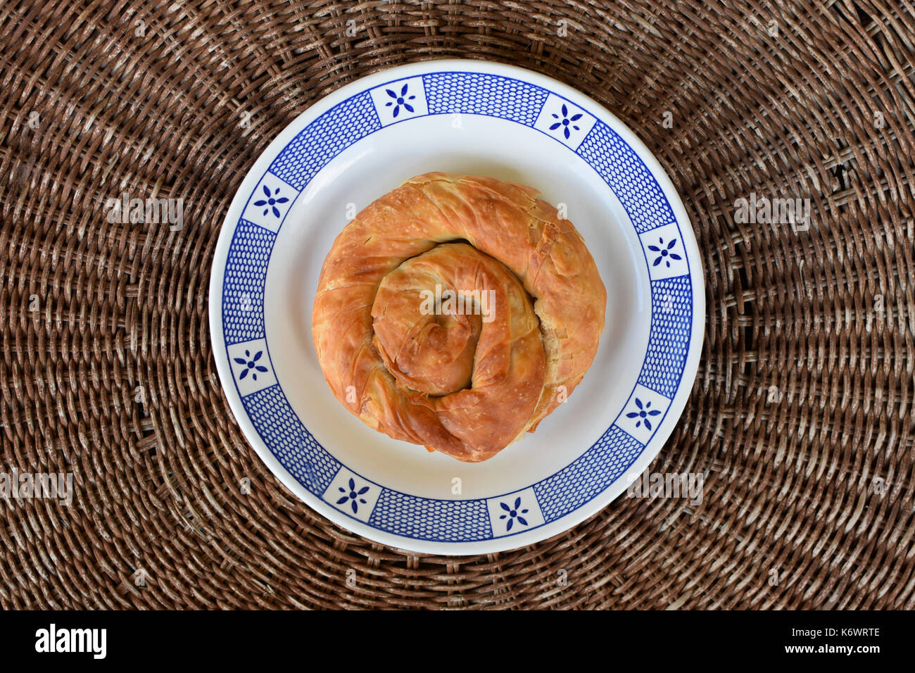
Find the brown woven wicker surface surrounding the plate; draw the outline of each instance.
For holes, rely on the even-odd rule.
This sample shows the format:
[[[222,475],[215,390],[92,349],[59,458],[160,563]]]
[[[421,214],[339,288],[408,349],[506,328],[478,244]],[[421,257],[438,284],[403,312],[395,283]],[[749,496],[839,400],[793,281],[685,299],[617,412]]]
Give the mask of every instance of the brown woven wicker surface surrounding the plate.
[[[0,5],[0,469],[76,492],[0,499],[3,607],[915,605],[911,2],[150,5]],[[308,105],[441,57],[575,86],[670,173],[708,308],[651,470],[705,472],[701,505],[414,555],[314,515],[242,436],[207,312],[232,195]],[[124,190],[183,199],[183,229],[108,223]],[[754,193],[809,199],[809,229],[738,223]]]

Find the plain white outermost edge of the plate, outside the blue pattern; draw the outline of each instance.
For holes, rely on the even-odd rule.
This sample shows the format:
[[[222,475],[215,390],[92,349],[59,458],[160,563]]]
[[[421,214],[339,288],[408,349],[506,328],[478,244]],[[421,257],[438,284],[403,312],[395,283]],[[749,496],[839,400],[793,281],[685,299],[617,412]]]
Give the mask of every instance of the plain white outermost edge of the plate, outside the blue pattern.
[[[339,103],[348,100],[352,95],[370,91],[372,88],[389,81],[403,80],[404,78],[430,74],[436,71],[483,73],[527,82],[538,86],[547,92],[553,92],[560,97],[574,102],[576,105],[582,107],[583,110],[593,115],[597,120],[608,125],[610,129],[630,147],[637,157],[640,158],[645,165],[645,168],[651,173],[651,177],[657,182],[658,187],[662,190],[663,197],[670,205],[675,222],[678,224],[678,229],[683,236],[684,252],[686,253],[687,264],[689,266],[690,289],[692,292],[693,320],[683,373],[680,376],[673,398],[671,399],[670,405],[667,407],[667,411],[665,412],[664,419],[662,420],[659,429],[643,445],[643,449],[636,459],[632,461],[607,488],[598,492],[586,503],[564,516],[559,516],[552,522],[535,526],[533,529],[501,537],[490,537],[478,541],[447,542],[403,537],[370,526],[359,519],[348,516],[346,513],[328,505],[316,495],[311,494],[298,482],[296,477],[286,469],[285,465],[279,461],[273,451],[266,445],[260,433],[254,428],[247,409],[242,405],[239,391],[235,389],[234,386],[234,374],[231,372],[231,364],[229,364],[224,333],[222,331],[223,278],[228,263],[231,242],[237,229],[238,222],[244,213],[244,209],[248,201],[250,201],[254,188],[259,184],[266,171],[273,165],[274,160],[308,124],[314,122],[321,114],[328,112],[328,110]],[[584,102],[587,107],[580,105],[581,102]],[[529,126],[529,128],[537,130],[533,129],[533,126]],[[607,186],[607,189],[612,191],[609,185]],[[645,147],[640,138],[631,131],[629,126],[623,124],[615,114],[612,114],[603,105],[597,103],[597,101],[586,93],[580,92],[561,81],[554,80],[553,78],[536,71],[488,60],[433,59],[416,61],[394,66],[393,68],[375,71],[358,80],[351,81],[333,92],[329,92],[310,105],[301,114],[296,115],[296,118],[286,125],[267,147],[264,147],[264,150],[255,159],[251,168],[247,170],[245,177],[242,179],[242,183],[232,197],[229,209],[222,220],[219,238],[214,248],[212,266],[210,267],[209,310],[210,343],[213,348],[213,357],[216,362],[221,387],[226,400],[229,403],[229,407],[231,408],[232,415],[242,429],[242,434],[245,439],[248,440],[260,459],[264,461],[264,464],[270,472],[272,472],[286,488],[318,515],[328,518],[330,521],[347,531],[356,533],[372,541],[393,548],[406,549],[418,553],[468,556],[522,548],[549,537],[561,535],[610,505],[632,481],[630,479],[629,482],[627,482],[626,478],[628,476],[634,478],[641,472],[644,472],[651,462],[654,461],[658,453],[662,450],[664,443],[673,433],[673,429],[680,423],[686,402],[692,394],[695,375],[698,371],[698,364],[701,360],[702,348],[705,342],[705,274],[702,266],[702,256],[700,255],[698,244],[695,239],[693,223],[690,220],[688,213],[685,211],[683,201],[674,188],[673,182],[667,175],[667,172],[662,168],[658,159],[654,157],[647,147]],[[233,385],[227,385],[227,381],[231,381]],[[633,386],[638,385],[637,381],[633,383]],[[301,420],[299,420],[299,422],[301,422]],[[613,427],[613,423],[614,421],[612,420],[609,422],[608,429]],[[574,460],[576,459],[573,459],[573,461]],[[568,464],[571,464],[571,462],[572,461]],[[359,475],[359,472],[352,470],[352,468],[344,463],[340,464],[349,472]],[[368,482],[375,483],[369,478],[363,478]],[[536,483],[538,482],[534,482],[521,489],[511,490],[508,494],[514,494],[526,490],[527,488],[533,488],[533,485]],[[390,489],[390,487],[383,488],[395,491],[395,489]],[[505,494],[502,495],[504,496]],[[496,497],[500,497],[500,495],[485,495],[480,498],[474,498],[474,500],[489,500],[490,498]],[[425,499],[435,500],[434,498]],[[443,498],[442,500],[448,499]]]

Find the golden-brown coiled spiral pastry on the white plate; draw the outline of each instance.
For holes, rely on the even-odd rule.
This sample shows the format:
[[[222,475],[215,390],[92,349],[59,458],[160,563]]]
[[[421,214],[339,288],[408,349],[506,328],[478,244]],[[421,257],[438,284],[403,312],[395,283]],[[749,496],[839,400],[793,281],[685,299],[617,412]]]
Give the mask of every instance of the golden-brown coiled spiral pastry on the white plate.
[[[607,292],[572,223],[529,187],[426,173],[330,249],[312,315],[350,412],[394,439],[485,461],[572,393]]]

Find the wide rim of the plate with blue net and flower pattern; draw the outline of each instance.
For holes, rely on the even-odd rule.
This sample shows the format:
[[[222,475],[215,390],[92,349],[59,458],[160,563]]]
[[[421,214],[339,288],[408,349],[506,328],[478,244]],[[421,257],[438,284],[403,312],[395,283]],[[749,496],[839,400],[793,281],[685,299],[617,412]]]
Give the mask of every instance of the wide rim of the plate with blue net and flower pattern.
[[[485,98],[501,101],[509,92],[524,101],[523,109],[493,106]],[[623,204],[642,243],[651,284],[649,349],[629,401],[600,440],[526,488],[463,500],[387,488],[321,446],[296,417],[272,373],[263,306],[265,269],[276,234],[320,169],[386,126],[455,112],[509,119],[572,149]],[[335,136],[339,139],[326,142],[320,152],[309,151],[307,141],[318,131],[326,136],[328,125],[341,124],[339,117],[347,121]],[[608,147],[611,160],[598,160]],[[253,270],[247,261],[252,251],[267,256],[262,270]],[[233,308],[240,274],[246,283],[260,283],[253,297],[245,294],[251,305],[241,315]],[[671,291],[680,300],[673,309]],[[662,301],[665,310],[659,310]],[[648,467],[673,432],[692,389],[704,325],[698,247],[683,203],[657,159],[617,117],[583,93],[533,71],[478,60],[430,60],[380,71],[328,94],[296,117],[242,181],[226,214],[210,276],[217,371],[254,450],[319,514],[382,544],[422,553],[469,555],[523,547],[560,534],[608,505]]]

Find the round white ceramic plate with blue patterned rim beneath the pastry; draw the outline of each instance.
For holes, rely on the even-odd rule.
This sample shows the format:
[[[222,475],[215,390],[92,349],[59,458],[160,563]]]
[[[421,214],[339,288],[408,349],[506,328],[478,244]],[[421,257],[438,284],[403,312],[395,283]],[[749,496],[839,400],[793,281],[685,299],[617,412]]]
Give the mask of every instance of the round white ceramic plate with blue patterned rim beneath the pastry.
[[[431,170],[541,190],[584,236],[608,290],[584,382],[536,433],[476,464],[350,415],[311,336],[318,273],[339,231]],[[477,554],[561,533],[645,470],[689,396],[704,297],[683,204],[615,116],[531,71],[437,60],[339,89],[267,147],[222,226],[210,331],[242,431],[307,505],[393,547]]]

